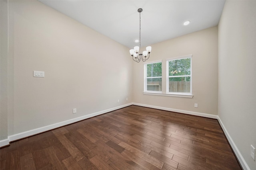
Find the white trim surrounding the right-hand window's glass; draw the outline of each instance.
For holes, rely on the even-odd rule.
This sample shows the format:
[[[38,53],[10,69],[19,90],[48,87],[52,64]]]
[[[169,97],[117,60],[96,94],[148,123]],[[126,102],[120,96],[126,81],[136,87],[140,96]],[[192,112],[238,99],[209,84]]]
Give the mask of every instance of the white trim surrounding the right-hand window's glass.
[[[190,93],[168,92],[168,87],[169,87],[169,61],[179,60],[179,59],[186,59],[186,58],[191,58],[191,61],[190,61]],[[174,77],[179,77],[179,76],[174,76]],[[184,76],[180,76],[180,77],[184,77]],[[192,95],[192,55],[185,55],[185,56],[166,59],[166,95],[174,96],[174,97],[188,97],[188,98],[193,97],[193,95]]]

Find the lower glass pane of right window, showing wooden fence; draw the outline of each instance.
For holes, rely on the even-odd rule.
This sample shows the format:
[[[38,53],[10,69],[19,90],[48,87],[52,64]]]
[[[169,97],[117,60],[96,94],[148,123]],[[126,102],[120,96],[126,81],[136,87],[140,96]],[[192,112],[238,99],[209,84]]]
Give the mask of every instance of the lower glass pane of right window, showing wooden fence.
[[[190,77],[169,78],[169,92],[190,93]]]

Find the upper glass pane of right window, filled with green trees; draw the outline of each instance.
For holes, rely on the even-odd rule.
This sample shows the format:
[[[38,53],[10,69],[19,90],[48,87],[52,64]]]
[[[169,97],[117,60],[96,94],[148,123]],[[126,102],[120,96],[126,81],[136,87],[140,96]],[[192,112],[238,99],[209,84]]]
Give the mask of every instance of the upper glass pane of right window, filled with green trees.
[[[169,76],[190,75],[191,58],[169,61]]]

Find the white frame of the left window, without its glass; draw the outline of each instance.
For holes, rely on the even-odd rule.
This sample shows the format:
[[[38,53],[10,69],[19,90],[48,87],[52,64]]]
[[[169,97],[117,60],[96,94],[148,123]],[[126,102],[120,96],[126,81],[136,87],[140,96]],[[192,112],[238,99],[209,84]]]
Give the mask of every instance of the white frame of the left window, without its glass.
[[[162,63],[162,60],[157,60],[157,61],[150,61],[150,62],[145,62],[144,63],[144,92],[145,93],[153,93],[153,94],[162,94],[162,90],[161,91],[150,91],[147,90],[147,78],[162,78],[162,82],[163,82],[163,74],[162,76],[157,76],[157,77],[147,77],[147,65],[148,64],[154,64],[154,63]],[[161,70],[163,68],[163,63],[161,66]],[[161,84],[163,86],[163,83]],[[161,89],[162,89],[161,86]]]

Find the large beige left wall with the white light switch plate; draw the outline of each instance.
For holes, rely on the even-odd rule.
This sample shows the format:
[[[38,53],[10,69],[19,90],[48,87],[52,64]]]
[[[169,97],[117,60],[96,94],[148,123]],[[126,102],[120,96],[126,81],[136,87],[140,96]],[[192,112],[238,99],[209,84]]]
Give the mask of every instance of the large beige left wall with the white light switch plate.
[[[9,48],[9,136],[132,101],[129,49],[41,2],[9,1]]]

